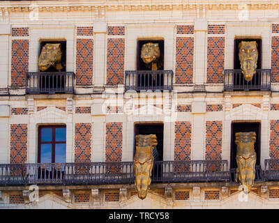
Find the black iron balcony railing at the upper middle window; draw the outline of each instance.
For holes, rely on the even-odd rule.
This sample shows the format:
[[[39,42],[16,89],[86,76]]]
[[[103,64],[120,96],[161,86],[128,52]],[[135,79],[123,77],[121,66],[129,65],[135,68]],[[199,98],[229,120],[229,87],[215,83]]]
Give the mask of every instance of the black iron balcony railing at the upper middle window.
[[[125,91],[172,91],[172,70],[126,70]]]

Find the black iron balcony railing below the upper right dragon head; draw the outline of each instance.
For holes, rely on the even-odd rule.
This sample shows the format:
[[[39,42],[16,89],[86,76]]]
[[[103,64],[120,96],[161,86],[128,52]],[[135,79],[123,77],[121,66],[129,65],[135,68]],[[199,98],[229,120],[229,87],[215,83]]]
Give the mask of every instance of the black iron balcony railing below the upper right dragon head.
[[[271,69],[257,69],[250,82],[244,79],[241,70],[224,70],[225,91],[250,91],[271,89]]]

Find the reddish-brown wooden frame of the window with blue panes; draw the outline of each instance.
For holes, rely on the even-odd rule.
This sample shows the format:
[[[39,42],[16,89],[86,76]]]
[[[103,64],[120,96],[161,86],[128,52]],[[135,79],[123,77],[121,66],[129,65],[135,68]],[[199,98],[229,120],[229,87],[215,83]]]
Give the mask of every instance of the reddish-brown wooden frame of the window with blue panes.
[[[52,129],[52,141],[42,141],[42,129],[51,128]],[[38,163],[41,163],[41,145],[42,144],[52,144],[52,162],[55,163],[55,144],[66,144],[66,141],[56,141],[55,130],[56,128],[65,128],[66,125],[40,125],[38,127]]]

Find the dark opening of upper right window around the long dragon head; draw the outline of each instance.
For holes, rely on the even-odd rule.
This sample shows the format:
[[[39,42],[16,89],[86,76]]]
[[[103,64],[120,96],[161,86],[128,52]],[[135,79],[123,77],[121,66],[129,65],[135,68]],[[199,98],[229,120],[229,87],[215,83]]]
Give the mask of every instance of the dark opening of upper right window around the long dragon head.
[[[258,52],[258,57],[257,57],[257,69],[262,69],[262,39],[257,39],[257,38],[237,38],[234,39],[234,70],[241,70],[241,64],[239,61],[239,43],[241,41],[256,41],[257,43],[257,52]],[[260,74],[255,74],[250,83],[252,82],[253,85],[260,86],[261,85],[261,77],[258,77]],[[249,82],[246,81],[246,79],[243,78],[243,74],[241,75],[235,75],[234,76],[234,85],[241,85],[241,86],[246,86],[248,85]]]

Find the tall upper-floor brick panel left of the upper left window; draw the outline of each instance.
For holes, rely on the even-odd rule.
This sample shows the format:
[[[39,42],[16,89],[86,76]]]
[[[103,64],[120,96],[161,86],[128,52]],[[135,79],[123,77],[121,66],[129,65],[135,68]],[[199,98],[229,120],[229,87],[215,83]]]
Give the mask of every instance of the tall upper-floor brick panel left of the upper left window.
[[[29,40],[12,40],[11,87],[16,89],[25,86],[29,70]]]

